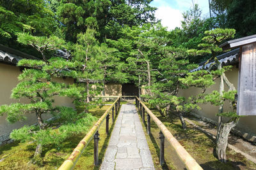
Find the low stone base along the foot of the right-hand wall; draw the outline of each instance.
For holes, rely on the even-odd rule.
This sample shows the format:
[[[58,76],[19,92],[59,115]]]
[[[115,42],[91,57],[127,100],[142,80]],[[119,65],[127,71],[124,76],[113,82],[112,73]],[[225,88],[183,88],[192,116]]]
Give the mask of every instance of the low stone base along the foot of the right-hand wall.
[[[191,115],[193,115],[196,118],[200,118],[204,122],[209,122],[210,124],[218,125],[218,122],[211,120],[210,118],[202,117],[202,115],[196,114],[191,112]],[[246,139],[250,142],[256,142],[256,134],[253,134],[251,132],[244,132],[241,129],[237,129],[236,127],[231,130],[233,134],[236,134],[237,136],[241,136],[242,138]]]

